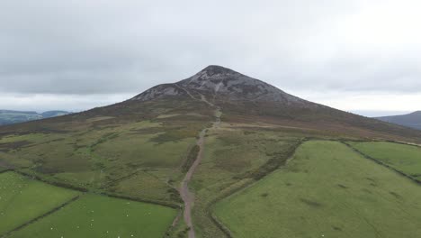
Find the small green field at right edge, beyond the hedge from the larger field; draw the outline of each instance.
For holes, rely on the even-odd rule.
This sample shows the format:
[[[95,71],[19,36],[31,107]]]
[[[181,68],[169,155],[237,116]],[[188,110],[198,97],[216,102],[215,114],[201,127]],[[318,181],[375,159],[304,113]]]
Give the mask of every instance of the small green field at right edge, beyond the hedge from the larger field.
[[[347,142],[358,151],[421,181],[421,147],[392,142]]]

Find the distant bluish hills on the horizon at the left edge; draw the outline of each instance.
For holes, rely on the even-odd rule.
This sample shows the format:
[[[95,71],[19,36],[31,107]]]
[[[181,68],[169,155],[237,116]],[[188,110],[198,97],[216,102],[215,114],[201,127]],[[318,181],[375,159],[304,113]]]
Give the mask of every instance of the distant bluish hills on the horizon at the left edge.
[[[64,114],[70,113],[66,111],[47,111],[39,114],[31,111],[0,110],[0,125],[24,123]]]

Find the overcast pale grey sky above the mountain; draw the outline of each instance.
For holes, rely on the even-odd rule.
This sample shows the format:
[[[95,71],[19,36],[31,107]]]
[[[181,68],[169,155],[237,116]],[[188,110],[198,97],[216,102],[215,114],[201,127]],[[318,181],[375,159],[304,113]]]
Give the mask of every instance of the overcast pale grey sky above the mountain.
[[[421,109],[421,1],[1,0],[0,108],[79,111],[210,64],[362,114]]]

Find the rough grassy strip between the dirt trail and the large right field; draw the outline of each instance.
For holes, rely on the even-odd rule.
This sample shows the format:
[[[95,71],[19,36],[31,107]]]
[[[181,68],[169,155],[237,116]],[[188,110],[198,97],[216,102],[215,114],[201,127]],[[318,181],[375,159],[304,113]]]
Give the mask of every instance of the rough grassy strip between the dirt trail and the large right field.
[[[208,132],[202,162],[191,181],[195,192],[193,221],[200,237],[224,237],[210,219],[214,200],[282,166],[288,159],[285,154],[300,139],[300,135],[259,129],[221,124]]]

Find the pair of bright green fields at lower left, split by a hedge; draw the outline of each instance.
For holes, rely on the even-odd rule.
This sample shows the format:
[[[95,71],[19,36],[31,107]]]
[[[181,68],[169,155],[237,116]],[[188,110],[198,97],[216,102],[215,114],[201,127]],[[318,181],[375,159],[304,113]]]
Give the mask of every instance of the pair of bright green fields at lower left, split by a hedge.
[[[0,174],[0,235],[5,237],[162,237],[176,213],[167,206],[54,187],[10,171]]]

